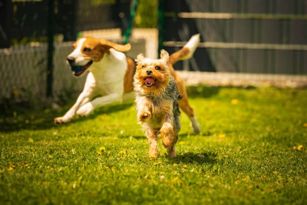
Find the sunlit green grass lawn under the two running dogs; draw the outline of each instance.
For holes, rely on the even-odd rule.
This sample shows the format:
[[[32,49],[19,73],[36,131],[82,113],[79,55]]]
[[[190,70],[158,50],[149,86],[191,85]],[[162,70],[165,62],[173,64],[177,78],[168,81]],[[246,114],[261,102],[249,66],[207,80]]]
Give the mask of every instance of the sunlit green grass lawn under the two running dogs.
[[[307,89],[190,87],[177,158],[157,160],[134,105],[54,125],[12,107],[0,121],[0,204],[304,204]],[[301,146],[303,148],[301,148]]]

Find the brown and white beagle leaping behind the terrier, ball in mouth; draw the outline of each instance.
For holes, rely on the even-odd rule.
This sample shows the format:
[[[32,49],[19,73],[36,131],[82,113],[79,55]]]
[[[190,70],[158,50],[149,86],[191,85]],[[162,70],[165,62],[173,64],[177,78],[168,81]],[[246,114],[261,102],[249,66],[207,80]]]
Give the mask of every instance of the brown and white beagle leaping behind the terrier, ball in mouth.
[[[179,106],[189,116],[196,134],[200,132],[200,126],[189,105],[185,85],[175,72],[173,65],[179,60],[190,58],[198,43],[199,34],[196,34],[183,48],[170,55],[169,65],[178,83],[179,91],[183,95],[183,98],[179,100]],[[86,71],[89,72],[77,101],[64,116],[54,119],[56,124],[67,123],[76,114],[87,116],[94,109],[102,106],[133,101],[132,81],[135,61],[123,53],[130,50],[130,44],[120,45],[92,37],[81,37],[73,44],[73,48],[73,52],[67,56],[73,75],[78,77],[84,75]],[[94,98],[96,95],[101,96]]]

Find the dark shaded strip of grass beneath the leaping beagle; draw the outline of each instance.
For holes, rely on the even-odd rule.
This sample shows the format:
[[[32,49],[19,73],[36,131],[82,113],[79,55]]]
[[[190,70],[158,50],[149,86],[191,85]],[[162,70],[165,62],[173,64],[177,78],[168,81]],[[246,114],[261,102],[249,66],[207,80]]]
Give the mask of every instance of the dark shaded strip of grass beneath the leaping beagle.
[[[110,114],[131,107],[132,104],[122,104],[99,108],[87,117],[75,116],[69,123],[95,119],[102,114]],[[51,109],[29,109],[17,107],[10,115],[0,115],[0,132],[16,132],[20,130],[43,130],[65,126],[54,124],[54,118],[63,116],[70,107],[65,106],[58,111]]]

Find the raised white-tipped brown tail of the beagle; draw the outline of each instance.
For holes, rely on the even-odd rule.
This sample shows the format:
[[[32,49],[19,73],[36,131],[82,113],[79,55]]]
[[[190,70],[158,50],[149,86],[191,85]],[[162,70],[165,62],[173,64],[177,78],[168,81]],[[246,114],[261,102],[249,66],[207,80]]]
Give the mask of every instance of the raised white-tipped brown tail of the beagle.
[[[199,36],[200,34],[193,35],[188,43],[184,45],[184,47],[170,55],[170,64],[174,65],[179,60],[186,60],[191,58],[198,46]]]

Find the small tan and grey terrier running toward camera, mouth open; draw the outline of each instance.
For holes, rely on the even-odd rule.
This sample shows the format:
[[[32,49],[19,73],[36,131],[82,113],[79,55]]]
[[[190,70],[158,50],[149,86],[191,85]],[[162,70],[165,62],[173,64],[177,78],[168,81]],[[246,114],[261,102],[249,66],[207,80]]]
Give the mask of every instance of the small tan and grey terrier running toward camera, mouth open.
[[[138,123],[149,142],[149,158],[158,158],[158,136],[170,157],[176,157],[175,144],[180,131],[181,99],[169,68],[169,53],[161,50],[160,59],[137,56],[133,85]]]

